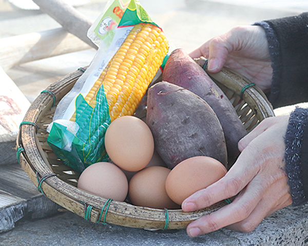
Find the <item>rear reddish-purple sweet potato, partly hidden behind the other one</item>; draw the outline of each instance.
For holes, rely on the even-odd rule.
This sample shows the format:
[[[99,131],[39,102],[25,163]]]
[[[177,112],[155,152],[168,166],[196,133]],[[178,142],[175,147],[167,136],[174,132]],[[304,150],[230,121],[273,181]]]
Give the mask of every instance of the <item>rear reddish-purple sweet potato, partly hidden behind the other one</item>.
[[[163,80],[194,92],[214,110],[224,131],[228,161],[232,165],[240,153],[238,142],[247,132],[222,90],[183,49],[171,52]]]

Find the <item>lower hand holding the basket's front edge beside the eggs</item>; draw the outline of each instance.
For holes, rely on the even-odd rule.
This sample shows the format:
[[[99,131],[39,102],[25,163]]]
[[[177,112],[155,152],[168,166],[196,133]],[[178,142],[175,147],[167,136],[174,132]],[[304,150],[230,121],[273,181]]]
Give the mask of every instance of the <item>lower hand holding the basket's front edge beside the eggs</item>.
[[[292,203],[283,160],[287,124],[288,116],[264,119],[239,141],[241,154],[227,174],[183,201],[183,211],[190,212],[238,194],[232,203],[191,222],[189,236],[223,227],[251,232],[264,217]]]

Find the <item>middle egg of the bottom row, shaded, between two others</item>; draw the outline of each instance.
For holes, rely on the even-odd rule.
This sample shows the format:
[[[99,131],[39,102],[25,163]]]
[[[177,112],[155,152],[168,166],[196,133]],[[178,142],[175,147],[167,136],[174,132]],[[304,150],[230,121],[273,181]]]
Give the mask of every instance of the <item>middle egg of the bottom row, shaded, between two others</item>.
[[[170,169],[149,167],[136,173],[129,182],[128,194],[132,204],[155,209],[178,209],[180,206],[167,195],[165,181]]]

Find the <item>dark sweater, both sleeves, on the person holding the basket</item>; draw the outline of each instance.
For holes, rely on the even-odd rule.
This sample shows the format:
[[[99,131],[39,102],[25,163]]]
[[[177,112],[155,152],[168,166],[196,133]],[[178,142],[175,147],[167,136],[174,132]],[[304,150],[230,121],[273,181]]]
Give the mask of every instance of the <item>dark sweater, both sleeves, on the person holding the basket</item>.
[[[274,108],[308,101],[308,13],[255,23],[264,28],[273,80],[268,98]],[[285,171],[293,205],[308,200],[308,109],[297,108],[285,135]]]

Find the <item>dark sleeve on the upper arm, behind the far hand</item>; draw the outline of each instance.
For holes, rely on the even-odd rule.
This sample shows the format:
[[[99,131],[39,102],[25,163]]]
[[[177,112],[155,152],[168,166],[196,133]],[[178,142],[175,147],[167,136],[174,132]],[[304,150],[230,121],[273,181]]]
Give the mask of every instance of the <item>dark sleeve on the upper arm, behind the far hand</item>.
[[[274,108],[308,101],[308,13],[255,23],[265,30],[273,67]]]

